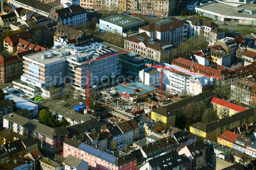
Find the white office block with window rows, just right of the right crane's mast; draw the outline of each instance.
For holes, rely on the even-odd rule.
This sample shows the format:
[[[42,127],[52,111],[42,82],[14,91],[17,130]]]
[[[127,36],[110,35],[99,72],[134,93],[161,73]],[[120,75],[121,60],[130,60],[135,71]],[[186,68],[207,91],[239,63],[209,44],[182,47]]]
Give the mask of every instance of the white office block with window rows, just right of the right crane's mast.
[[[166,71],[169,83],[166,84],[166,91],[171,94],[185,95],[189,93],[189,81],[191,75],[177,72]]]

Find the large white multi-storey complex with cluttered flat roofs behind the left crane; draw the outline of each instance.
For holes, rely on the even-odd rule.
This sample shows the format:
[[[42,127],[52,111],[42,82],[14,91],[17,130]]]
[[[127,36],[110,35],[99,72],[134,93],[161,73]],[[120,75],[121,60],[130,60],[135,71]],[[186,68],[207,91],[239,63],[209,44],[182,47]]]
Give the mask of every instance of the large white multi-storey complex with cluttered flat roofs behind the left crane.
[[[111,54],[115,52],[106,45],[93,43],[92,46],[76,47],[74,44],[62,44],[53,46],[52,49],[25,55],[24,74],[21,80],[25,84],[39,87],[43,95],[47,95],[45,89],[49,86],[62,86],[66,81],[73,84],[80,91],[86,88],[86,64],[88,59]],[[113,78],[121,74],[118,69],[117,55],[90,63],[91,70],[91,86],[101,80]],[[17,82],[13,81],[14,85]],[[20,84],[19,90],[24,91],[26,85]],[[24,86],[24,87],[23,87]],[[97,88],[97,85],[92,87]],[[32,96],[32,95],[31,95]]]

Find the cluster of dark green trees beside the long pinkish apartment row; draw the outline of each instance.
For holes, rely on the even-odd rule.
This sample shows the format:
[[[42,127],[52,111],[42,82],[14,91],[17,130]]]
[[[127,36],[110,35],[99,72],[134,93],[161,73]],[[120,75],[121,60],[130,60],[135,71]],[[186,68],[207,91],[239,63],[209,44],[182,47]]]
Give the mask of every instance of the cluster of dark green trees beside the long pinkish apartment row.
[[[66,119],[59,121],[56,119],[55,115],[52,115],[49,111],[46,111],[45,109],[39,112],[39,118],[37,118],[37,120],[53,128],[69,125],[69,122]]]

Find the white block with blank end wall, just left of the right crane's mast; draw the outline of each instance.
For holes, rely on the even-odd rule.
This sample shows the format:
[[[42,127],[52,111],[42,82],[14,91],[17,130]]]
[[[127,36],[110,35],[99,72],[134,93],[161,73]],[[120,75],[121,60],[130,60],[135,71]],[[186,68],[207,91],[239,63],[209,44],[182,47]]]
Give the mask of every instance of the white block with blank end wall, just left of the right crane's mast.
[[[159,88],[159,71],[156,68],[145,68],[139,72],[139,81]]]

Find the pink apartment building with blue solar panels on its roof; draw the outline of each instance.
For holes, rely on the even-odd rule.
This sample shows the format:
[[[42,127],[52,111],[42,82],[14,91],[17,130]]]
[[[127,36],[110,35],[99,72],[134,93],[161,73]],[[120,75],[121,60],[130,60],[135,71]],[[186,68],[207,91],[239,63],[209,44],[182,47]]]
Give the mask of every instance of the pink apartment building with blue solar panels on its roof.
[[[63,156],[72,155],[89,163],[93,170],[134,170],[137,158],[131,153],[115,157],[76,139],[63,141]]]

